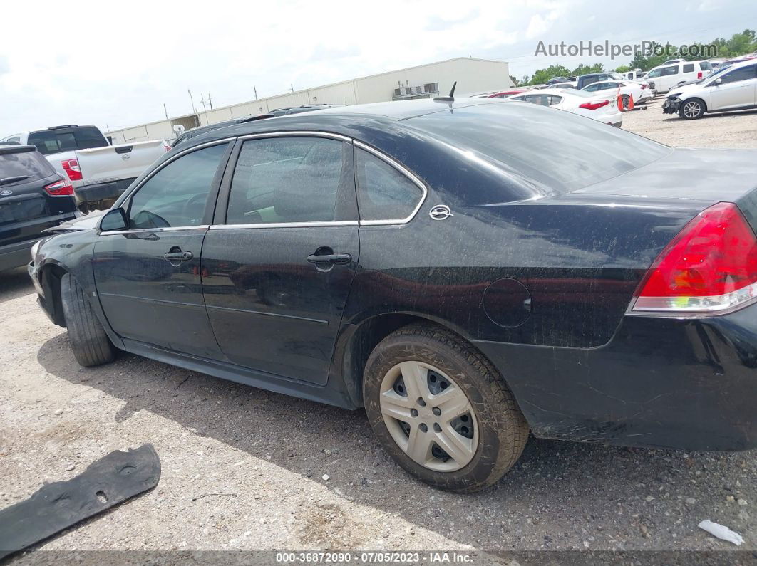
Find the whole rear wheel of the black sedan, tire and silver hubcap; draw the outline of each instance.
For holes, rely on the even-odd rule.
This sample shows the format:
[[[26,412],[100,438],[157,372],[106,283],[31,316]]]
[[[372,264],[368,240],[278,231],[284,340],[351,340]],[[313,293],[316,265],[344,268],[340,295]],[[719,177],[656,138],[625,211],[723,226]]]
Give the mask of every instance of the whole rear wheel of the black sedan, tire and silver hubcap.
[[[459,336],[413,324],[382,340],[366,363],[366,413],[407,472],[446,490],[494,484],[516,462],[528,424],[500,373]]]

